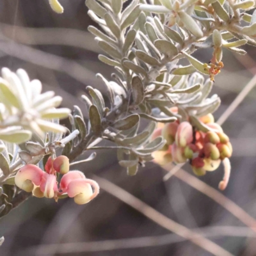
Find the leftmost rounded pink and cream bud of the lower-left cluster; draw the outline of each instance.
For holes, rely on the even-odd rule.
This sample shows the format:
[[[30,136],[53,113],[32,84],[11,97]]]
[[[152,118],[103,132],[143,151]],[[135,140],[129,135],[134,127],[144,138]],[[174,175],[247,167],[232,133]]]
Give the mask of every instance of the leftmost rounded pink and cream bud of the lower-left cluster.
[[[15,175],[15,184],[26,192],[33,191],[34,185],[39,186],[44,172],[34,164],[26,164]]]

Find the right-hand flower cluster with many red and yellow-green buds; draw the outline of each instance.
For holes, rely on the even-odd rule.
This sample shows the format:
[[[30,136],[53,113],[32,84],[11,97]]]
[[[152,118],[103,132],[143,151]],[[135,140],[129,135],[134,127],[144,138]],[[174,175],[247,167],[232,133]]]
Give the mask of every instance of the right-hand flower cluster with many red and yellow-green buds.
[[[226,157],[232,155],[232,145],[220,125],[214,123],[211,114],[203,116],[200,121],[210,131],[198,131],[188,122],[175,121],[159,124],[152,139],[163,136],[166,145],[153,156],[156,163],[185,163],[189,160],[196,175],[204,175],[206,171],[214,171]]]

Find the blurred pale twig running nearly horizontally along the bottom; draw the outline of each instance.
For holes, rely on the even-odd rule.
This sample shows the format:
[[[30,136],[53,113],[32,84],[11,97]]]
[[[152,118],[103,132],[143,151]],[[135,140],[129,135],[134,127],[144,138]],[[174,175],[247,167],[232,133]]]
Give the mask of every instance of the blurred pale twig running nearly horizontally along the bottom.
[[[256,234],[246,227],[205,227],[192,229],[201,236],[207,237],[256,237]],[[50,255],[54,253],[81,253],[81,252],[102,252],[110,250],[145,248],[150,246],[163,246],[166,244],[179,243],[186,241],[184,237],[176,234],[167,234],[163,236],[135,237],[127,239],[113,239],[105,241],[80,242],[80,243],[59,243],[42,244],[40,246],[31,246],[26,252],[35,252],[38,250],[40,255]]]

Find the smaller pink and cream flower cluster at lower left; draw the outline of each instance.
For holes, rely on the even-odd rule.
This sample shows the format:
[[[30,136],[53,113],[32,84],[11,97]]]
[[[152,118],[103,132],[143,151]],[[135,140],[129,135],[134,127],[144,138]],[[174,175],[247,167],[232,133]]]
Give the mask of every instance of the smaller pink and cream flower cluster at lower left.
[[[57,173],[62,174],[58,187]],[[45,164],[45,172],[35,164],[26,164],[17,172],[15,184],[20,189],[33,192],[39,198],[54,198],[67,195],[74,198],[76,204],[86,204],[99,194],[99,185],[91,179],[86,179],[79,171],[69,172],[69,159],[50,156]]]

